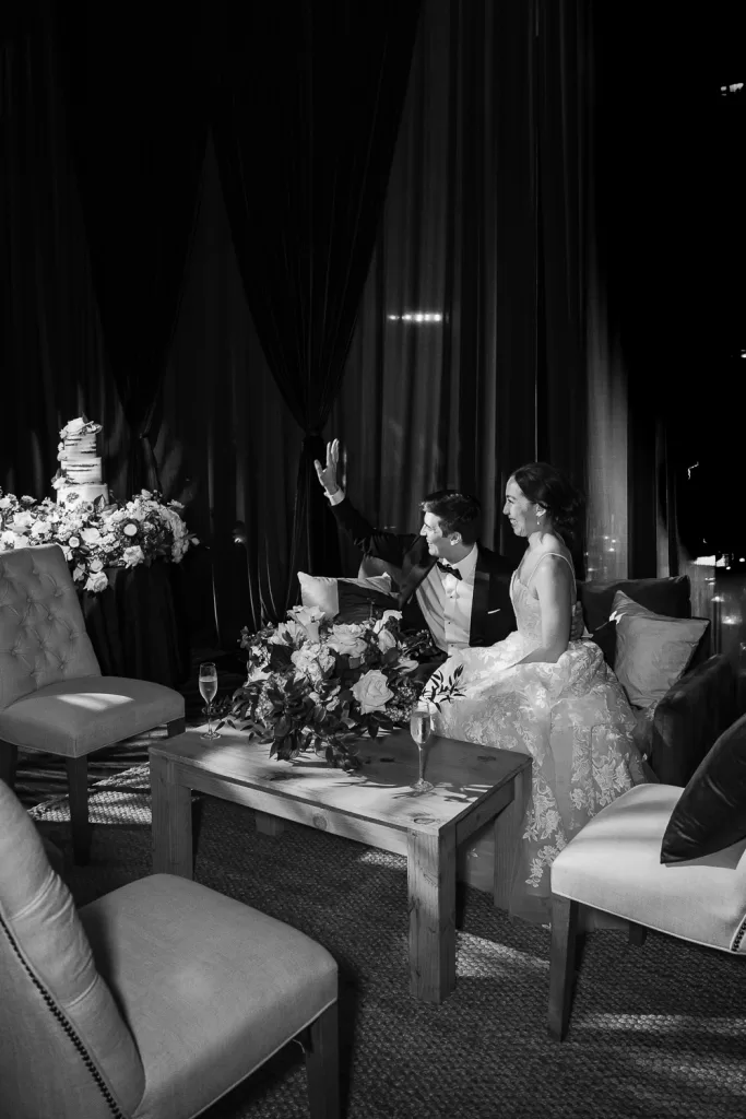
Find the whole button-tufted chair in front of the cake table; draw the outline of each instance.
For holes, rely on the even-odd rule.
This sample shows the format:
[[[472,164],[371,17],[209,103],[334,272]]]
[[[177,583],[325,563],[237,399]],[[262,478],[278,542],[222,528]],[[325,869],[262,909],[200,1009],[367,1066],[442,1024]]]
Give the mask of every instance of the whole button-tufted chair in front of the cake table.
[[[65,758],[73,845],[88,856],[87,755],[163,723],[185,726],[183,697],[149,680],[102,676],[62,548],[0,552],[0,777],[19,746]]]

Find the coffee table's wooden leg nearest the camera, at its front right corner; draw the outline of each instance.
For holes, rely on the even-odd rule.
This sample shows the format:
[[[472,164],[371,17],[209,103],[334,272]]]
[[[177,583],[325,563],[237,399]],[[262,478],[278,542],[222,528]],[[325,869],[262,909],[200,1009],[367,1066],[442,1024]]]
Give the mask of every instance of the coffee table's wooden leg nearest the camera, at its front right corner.
[[[456,836],[410,831],[409,990],[425,1003],[442,1003],[456,985]]]

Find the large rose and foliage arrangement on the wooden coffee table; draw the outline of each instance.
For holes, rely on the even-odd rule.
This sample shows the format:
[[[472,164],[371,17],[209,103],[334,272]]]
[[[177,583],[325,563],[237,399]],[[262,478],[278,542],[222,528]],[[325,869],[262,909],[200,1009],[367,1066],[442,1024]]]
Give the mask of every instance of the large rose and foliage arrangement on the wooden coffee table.
[[[438,708],[462,695],[457,678],[413,678],[419,657],[435,651],[429,633],[402,634],[398,610],[338,624],[317,606],[295,606],[285,622],[242,631],[248,675],[228,700],[224,722],[271,744],[290,761],[314,750],[329,765],[352,770],[361,737],[405,725],[418,703]]]

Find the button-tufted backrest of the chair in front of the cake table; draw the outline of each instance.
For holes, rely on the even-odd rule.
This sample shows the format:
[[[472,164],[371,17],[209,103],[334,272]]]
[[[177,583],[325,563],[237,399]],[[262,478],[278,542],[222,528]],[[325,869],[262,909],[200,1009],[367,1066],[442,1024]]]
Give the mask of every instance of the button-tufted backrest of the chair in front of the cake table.
[[[57,680],[100,675],[59,545],[0,552],[0,709]]]

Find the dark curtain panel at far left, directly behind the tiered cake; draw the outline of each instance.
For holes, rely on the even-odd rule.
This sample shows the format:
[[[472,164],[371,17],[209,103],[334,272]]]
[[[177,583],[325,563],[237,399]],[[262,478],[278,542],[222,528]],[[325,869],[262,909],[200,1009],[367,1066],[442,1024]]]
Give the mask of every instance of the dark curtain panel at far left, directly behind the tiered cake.
[[[50,11],[0,12],[0,486],[50,495],[58,431],[86,411],[104,424],[113,492],[126,487],[125,421],[107,366],[67,144]]]

